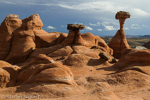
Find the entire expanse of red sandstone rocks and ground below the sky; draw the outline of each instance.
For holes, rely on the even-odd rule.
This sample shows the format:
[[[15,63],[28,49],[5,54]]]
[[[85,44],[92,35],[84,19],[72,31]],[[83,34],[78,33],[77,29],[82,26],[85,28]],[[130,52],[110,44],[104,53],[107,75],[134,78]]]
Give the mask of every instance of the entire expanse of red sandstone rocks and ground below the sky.
[[[125,49],[129,47],[123,25],[128,13],[116,15],[120,30],[109,44],[112,48],[99,36],[81,34],[84,25],[69,24],[68,35],[47,33],[38,14],[23,20],[9,16],[0,26],[0,55],[9,62],[0,61],[2,99],[6,94],[15,100],[25,95],[51,100],[150,98],[150,51]],[[119,61],[113,50],[115,57],[123,54]]]

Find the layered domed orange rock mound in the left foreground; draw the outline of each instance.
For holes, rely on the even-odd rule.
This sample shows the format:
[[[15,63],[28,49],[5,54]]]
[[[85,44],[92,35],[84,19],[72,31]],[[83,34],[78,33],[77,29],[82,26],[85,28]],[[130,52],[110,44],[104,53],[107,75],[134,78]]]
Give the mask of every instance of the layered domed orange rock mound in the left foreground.
[[[17,77],[17,85],[34,82],[76,84],[69,68],[43,54],[22,66]]]

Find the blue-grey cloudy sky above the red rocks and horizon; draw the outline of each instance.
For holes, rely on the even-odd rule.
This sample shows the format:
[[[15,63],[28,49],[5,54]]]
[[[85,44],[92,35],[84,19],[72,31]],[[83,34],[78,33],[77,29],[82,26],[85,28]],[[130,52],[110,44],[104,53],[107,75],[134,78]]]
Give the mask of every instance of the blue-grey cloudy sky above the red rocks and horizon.
[[[127,11],[126,35],[150,35],[149,0],[0,0],[0,23],[9,14],[24,19],[39,14],[47,32],[67,33],[67,24],[84,24],[81,33],[113,36],[119,28],[118,11]]]

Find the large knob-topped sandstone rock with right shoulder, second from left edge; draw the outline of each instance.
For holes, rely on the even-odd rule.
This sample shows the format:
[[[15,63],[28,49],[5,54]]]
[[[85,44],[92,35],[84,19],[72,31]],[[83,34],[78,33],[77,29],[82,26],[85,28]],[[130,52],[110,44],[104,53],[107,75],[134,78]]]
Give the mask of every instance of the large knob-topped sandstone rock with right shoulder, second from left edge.
[[[11,50],[5,60],[13,64],[22,63],[35,48],[57,44],[59,34],[47,33],[42,26],[38,14],[23,19],[21,27],[13,32]]]

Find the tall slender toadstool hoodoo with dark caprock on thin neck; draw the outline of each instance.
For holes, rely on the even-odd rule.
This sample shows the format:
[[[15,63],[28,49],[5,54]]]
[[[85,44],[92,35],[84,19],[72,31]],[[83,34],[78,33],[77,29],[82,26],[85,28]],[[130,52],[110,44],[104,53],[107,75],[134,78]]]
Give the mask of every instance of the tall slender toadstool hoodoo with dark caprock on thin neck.
[[[108,44],[110,48],[113,49],[113,56],[115,58],[120,58],[123,49],[129,49],[130,46],[127,42],[125,32],[124,32],[124,22],[126,18],[130,18],[130,14],[128,12],[120,11],[116,14],[116,19],[119,19],[120,29],[117,31],[116,35],[112,38],[110,43]]]

